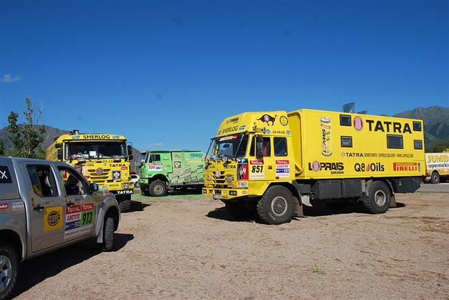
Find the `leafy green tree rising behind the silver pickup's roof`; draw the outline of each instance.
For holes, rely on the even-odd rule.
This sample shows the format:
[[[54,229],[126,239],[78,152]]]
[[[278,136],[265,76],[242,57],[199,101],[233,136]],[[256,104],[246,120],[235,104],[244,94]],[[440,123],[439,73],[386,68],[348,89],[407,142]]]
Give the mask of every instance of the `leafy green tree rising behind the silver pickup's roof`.
[[[29,157],[34,159],[40,150],[39,143],[44,141],[45,126],[38,125],[41,110],[35,116],[31,99],[26,98],[25,103],[26,110],[23,110],[23,116],[26,121],[21,125],[17,125],[19,114],[10,112],[8,116],[9,125],[6,127],[6,131],[8,132],[8,139],[12,143],[12,154],[15,157]]]

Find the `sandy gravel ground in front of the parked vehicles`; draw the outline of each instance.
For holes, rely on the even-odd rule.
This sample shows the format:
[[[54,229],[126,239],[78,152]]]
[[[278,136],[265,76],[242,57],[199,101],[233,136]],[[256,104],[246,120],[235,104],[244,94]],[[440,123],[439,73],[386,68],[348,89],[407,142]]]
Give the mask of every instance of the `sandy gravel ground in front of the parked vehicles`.
[[[381,215],[325,206],[281,226],[201,196],[138,199],[117,251],[26,261],[18,299],[449,299],[449,194],[398,195]]]

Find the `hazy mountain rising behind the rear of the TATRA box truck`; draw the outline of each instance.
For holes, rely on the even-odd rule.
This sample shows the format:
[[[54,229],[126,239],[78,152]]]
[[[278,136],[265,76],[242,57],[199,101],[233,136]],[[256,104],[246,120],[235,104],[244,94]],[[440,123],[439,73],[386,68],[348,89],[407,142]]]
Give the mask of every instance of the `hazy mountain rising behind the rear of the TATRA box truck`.
[[[430,106],[405,110],[393,117],[422,119],[424,121],[424,137],[426,143],[433,143],[440,139],[449,139],[449,108]]]

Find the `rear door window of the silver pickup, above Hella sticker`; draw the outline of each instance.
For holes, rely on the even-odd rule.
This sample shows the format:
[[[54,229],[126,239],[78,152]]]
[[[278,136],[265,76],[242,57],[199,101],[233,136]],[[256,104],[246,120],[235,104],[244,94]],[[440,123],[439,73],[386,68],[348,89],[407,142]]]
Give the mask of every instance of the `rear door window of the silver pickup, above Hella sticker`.
[[[58,195],[55,177],[50,166],[27,166],[32,190],[39,197],[56,197]]]

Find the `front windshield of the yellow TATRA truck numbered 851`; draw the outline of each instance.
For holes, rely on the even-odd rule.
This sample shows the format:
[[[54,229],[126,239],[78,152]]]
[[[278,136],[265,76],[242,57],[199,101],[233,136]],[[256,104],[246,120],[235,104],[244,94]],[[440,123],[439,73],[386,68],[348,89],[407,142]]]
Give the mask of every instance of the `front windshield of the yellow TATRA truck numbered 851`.
[[[227,137],[218,137],[214,140],[211,159],[244,157],[247,151],[247,144],[247,134],[240,133]]]

